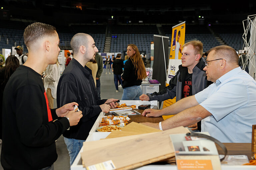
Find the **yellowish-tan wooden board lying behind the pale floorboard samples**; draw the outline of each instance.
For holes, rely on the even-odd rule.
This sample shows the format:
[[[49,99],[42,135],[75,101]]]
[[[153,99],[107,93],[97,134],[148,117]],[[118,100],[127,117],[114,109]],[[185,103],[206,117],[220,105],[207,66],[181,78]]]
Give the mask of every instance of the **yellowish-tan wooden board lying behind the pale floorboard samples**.
[[[106,138],[130,136],[130,135],[152,133],[152,132],[159,132],[159,131],[161,130],[152,128],[143,124],[139,124],[136,122],[131,122],[121,130],[112,131]]]

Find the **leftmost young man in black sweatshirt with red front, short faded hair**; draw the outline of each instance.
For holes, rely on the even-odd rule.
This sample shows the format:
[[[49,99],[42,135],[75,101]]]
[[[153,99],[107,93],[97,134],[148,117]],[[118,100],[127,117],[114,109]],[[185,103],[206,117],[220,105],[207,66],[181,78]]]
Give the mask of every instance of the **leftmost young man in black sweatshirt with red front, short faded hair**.
[[[52,170],[57,160],[55,140],[77,125],[82,112],[68,103],[50,109],[41,74],[55,64],[60,51],[55,27],[33,23],[24,31],[29,57],[10,77],[3,95],[3,145],[5,170]]]

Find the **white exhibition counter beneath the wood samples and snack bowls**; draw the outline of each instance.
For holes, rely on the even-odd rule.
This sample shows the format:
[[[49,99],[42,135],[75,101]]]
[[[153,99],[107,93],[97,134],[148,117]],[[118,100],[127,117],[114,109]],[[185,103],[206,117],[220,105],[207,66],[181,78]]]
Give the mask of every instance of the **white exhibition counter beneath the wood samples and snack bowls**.
[[[157,101],[135,101],[135,100],[120,100],[120,104],[126,103],[126,105],[142,105],[142,104],[151,104],[151,106],[157,106]],[[91,128],[89,135],[85,142],[87,141],[94,141],[94,140],[100,140],[105,137],[107,137],[111,132],[97,132],[96,128],[99,127],[99,123],[101,123],[102,117],[105,115],[104,112],[101,112],[97,120],[95,121],[93,127]],[[83,152],[83,147],[79,151],[76,159],[74,160],[73,164],[71,165],[71,170],[86,170],[86,168],[82,165],[82,159],[81,159],[81,152]],[[177,170],[176,165],[145,165],[139,168],[135,168],[136,170]],[[253,165],[221,165],[222,170],[255,170],[256,167]]]

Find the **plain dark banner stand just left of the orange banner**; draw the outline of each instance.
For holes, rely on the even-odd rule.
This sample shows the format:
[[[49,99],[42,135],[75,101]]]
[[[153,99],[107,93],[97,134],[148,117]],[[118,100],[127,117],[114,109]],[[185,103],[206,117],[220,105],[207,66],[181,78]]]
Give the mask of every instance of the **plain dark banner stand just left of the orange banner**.
[[[168,50],[169,50],[169,38],[163,37],[164,41],[164,51],[162,37],[154,36],[154,63],[153,63],[153,75],[152,78],[158,80],[161,85],[159,86],[159,91],[165,87],[166,81],[166,70],[169,60]],[[164,53],[165,53],[165,63],[164,65]]]

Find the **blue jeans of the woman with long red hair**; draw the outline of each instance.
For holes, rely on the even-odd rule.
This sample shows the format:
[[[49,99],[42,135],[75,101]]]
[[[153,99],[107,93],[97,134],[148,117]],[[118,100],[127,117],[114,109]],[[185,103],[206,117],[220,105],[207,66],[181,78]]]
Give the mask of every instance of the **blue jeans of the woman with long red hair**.
[[[140,86],[125,87],[121,100],[140,100],[142,90]]]

